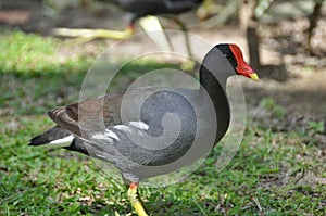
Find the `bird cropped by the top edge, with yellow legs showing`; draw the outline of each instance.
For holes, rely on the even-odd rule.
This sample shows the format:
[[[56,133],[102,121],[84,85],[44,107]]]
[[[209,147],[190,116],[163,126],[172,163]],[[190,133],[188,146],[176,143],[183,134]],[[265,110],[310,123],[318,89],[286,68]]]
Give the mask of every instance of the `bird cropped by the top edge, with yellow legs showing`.
[[[153,42],[163,51],[172,51],[168,38],[163,33],[163,27],[158,15],[172,18],[185,33],[185,42],[189,56],[191,55],[189,39],[187,37],[186,25],[176,16],[180,13],[197,9],[204,1],[212,0],[98,0],[111,3],[129,14],[128,25],[124,30],[110,29],[86,29],[86,28],[54,28],[53,34],[57,36],[77,37],[77,43],[86,42],[95,38],[125,39],[135,33],[135,23],[139,24],[150,36]],[[211,5],[211,4],[205,4]],[[151,31],[156,31],[151,35]],[[159,35],[158,31],[162,34]]]

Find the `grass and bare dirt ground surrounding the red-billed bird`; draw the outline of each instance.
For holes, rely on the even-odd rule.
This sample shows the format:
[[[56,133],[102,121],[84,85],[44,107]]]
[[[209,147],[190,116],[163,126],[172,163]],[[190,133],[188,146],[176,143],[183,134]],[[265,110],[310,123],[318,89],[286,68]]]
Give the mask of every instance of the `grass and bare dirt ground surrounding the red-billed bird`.
[[[26,5],[22,3],[22,9]],[[77,21],[78,16],[70,18]],[[86,22],[89,26],[105,23],[103,18],[74,21],[73,24]],[[45,26],[53,25],[43,22],[48,21],[21,27],[45,34]],[[326,214],[325,23],[321,20],[314,33],[315,55],[303,49],[306,18],[261,27],[261,58],[267,66],[258,69],[260,81],[241,79],[249,118],[237,155],[225,170],[217,173],[216,150],[184,182],[143,188],[141,194],[150,213]],[[238,43],[248,56],[246,39],[236,24],[212,29],[193,27],[191,33],[213,45]],[[114,41],[71,45],[67,40],[9,29],[1,35],[0,48],[8,51],[0,53],[0,124],[4,126],[0,128],[0,214],[131,212],[124,186],[102,175],[93,161],[64,150],[26,145],[28,139],[53,125],[46,117],[47,110],[77,100],[89,65]],[[141,46],[126,45],[124,50],[137,51]],[[149,65],[138,65],[133,71],[143,68]]]

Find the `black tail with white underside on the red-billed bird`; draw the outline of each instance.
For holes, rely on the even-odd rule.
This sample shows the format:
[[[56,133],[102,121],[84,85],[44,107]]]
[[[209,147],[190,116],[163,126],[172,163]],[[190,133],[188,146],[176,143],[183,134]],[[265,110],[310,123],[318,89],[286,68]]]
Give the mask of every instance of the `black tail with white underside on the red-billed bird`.
[[[53,140],[62,139],[70,136],[71,134],[63,128],[55,126],[47,130],[46,132],[36,136],[29,140],[28,145],[41,145],[47,144]]]

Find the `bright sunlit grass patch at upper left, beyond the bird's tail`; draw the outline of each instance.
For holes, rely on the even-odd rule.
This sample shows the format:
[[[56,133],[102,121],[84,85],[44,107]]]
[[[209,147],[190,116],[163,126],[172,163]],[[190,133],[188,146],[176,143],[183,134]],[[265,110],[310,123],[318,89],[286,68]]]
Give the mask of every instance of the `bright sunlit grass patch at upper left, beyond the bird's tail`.
[[[88,68],[91,61],[88,56],[74,56],[72,51],[66,54],[71,58],[62,58],[59,47],[62,42],[58,39],[4,29],[0,41],[0,73],[35,77],[79,73]]]

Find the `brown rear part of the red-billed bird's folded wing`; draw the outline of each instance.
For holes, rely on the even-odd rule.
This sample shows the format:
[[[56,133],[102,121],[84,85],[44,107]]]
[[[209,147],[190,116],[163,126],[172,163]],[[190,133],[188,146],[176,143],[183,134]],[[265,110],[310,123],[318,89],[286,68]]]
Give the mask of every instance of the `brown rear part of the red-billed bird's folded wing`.
[[[53,109],[48,115],[62,128],[82,137],[80,130],[97,131],[103,125],[102,122],[106,127],[121,124],[122,99],[123,93],[110,93],[68,106]]]

